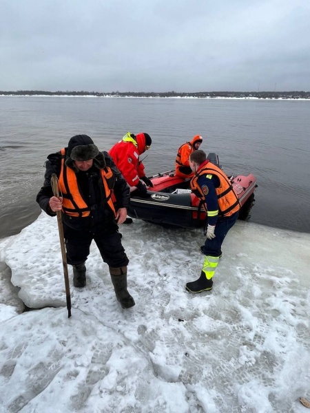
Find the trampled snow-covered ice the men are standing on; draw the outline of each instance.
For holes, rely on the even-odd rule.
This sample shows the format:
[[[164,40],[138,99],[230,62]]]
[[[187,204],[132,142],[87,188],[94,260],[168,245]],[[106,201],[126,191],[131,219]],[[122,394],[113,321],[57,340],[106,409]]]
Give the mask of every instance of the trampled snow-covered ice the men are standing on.
[[[69,266],[70,318],[56,218],[0,240],[1,413],[305,412],[309,234],[237,222],[214,289],[191,295],[202,229],[120,231],[136,306],[121,309],[93,243],[86,288]]]

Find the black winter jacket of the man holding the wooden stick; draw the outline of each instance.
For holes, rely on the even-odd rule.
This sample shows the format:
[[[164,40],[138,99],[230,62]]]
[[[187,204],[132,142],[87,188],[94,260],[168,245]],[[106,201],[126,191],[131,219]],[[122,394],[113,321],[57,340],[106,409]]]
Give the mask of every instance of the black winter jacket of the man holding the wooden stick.
[[[116,168],[110,155],[106,151],[99,152],[99,155],[94,158],[92,168],[87,172],[76,172],[76,178],[83,200],[89,207],[93,207],[91,214],[88,217],[76,218],[62,213],[63,224],[65,224],[65,226],[69,226],[76,231],[85,231],[94,235],[116,231],[118,226],[114,218],[114,213],[106,203],[101,204],[101,200],[105,198],[105,193],[103,193],[103,185],[101,184],[100,169],[105,166],[110,167],[114,173],[115,209],[128,207],[130,203],[130,188],[127,182],[121,175],[121,172]],[[51,177],[52,173],[56,173],[56,176],[59,178],[61,173],[60,151],[51,153],[48,156],[48,160],[45,162],[45,169],[45,180],[43,187],[41,187],[37,195],[37,202],[45,213],[54,216],[56,213],[50,209],[49,205],[50,198],[53,196]],[[61,195],[61,193],[59,195]]]

